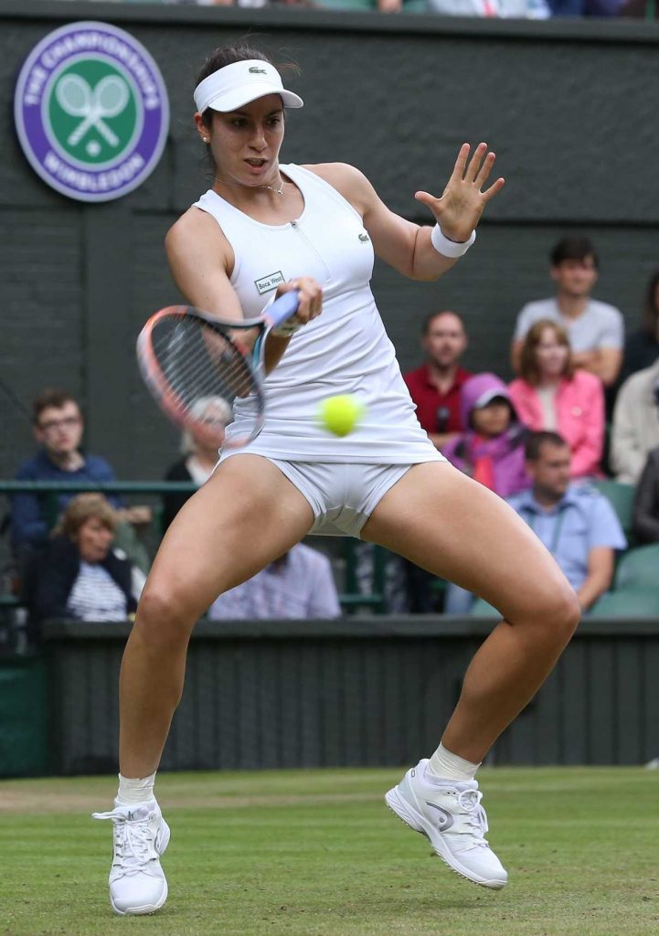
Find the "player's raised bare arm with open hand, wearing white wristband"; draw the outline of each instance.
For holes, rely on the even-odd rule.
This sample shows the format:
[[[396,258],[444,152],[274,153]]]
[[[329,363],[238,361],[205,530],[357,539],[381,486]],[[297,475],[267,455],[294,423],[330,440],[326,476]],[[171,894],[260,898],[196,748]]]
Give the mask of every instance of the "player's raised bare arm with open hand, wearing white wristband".
[[[469,154],[469,144],[464,143],[442,197],[428,192],[417,192],[415,196],[430,209],[432,220],[451,241],[469,240],[485,206],[504,186],[504,180],[497,179],[481,191],[495,157],[487,152],[485,143],[476,147],[471,159]],[[375,253],[394,270],[413,280],[436,280],[454,266],[455,259],[437,253],[432,246],[432,227],[414,224],[389,211],[359,169],[344,163],[307,168],[333,185],[359,212]]]

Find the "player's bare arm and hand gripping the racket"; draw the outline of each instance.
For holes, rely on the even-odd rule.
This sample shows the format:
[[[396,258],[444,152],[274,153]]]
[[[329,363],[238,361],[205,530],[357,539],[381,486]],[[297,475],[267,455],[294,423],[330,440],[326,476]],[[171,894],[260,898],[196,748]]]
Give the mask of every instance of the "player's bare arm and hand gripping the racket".
[[[168,230],[165,239],[169,269],[185,299],[209,314],[240,322],[244,315],[229,282],[235,257],[231,245],[210,214],[191,208]],[[277,295],[300,290],[301,322],[320,314],[322,290],[315,281],[300,277],[278,287]],[[266,372],[277,366],[290,339],[270,335],[266,344]]]

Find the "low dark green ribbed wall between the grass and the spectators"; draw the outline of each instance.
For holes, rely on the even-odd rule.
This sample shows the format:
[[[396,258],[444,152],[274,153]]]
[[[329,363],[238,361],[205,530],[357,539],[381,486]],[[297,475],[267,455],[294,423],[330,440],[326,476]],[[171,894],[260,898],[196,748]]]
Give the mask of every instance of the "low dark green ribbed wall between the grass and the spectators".
[[[116,770],[128,630],[108,622],[46,625],[55,773]],[[490,630],[488,621],[432,615],[313,626],[199,622],[161,768],[414,764],[437,743],[464,670]],[[658,665],[654,621],[584,619],[488,762],[646,763],[659,751]]]

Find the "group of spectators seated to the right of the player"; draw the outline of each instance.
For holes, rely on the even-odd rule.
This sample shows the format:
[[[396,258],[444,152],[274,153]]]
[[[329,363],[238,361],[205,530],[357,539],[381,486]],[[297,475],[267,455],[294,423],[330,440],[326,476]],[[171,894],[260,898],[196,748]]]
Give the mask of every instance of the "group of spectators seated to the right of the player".
[[[549,273],[555,294],[518,315],[510,384],[461,367],[467,336],[460,316],[447,311],[426,320],[425,363],[405,380],[432,442],[508,500],[588,613],[606,607],[600,601],[628,537],[634,546],[659,544],[659,273],[626,342],[621,312],[593,299],[598,257],[591,241],[559,241]],[[631,516],[625,503],[633,503]],[[659,588],[654,602],[659,613]],[[447,587],[445,611],[474,606],[475,596]]]

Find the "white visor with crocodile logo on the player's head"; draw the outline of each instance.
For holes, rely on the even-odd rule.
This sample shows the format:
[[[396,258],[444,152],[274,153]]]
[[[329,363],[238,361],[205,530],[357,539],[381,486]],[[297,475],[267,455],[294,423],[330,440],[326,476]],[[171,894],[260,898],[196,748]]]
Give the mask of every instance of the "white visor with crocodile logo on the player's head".
[[[234,62],[199,81],[195,104],[199,113],[207,108],[227,112],[265,95],[279,95],[287,108],[301,108],[304,104],[301,97],[286,91],[277,69],[260,59]]]

